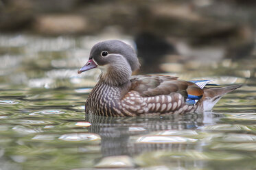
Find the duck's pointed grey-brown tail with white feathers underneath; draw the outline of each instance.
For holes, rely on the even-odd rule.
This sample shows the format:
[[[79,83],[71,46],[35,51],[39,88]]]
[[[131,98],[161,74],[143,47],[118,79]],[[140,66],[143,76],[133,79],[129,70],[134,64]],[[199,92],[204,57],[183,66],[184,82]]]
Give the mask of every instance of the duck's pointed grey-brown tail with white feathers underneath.
[[[198,111],[204,112],[211,110],[213,106],[220,100],[222,96],[229,93],[237,88],[240,88],[242,84],[231,85],[221,88],[203,88],[204,94],[202,98],[198,101]]]

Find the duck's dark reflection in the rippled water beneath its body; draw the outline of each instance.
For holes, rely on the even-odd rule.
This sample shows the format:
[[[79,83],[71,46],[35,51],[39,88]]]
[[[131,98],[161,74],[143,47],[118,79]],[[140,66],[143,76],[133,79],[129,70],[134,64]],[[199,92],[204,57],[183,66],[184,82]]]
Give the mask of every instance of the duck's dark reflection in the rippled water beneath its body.
[[[213,114],[211,114],[213,115]],[[170,115],[165,117],[100,117],[86,114],[91,123],[89,132],[102,138],[102,156],[134,156],[158,149],[182,150],[196,147],[193,136],[204,125],[204,114]],[[215,119],[207,124],[214,123]],[[198,147],[198,146],[197,146]]]

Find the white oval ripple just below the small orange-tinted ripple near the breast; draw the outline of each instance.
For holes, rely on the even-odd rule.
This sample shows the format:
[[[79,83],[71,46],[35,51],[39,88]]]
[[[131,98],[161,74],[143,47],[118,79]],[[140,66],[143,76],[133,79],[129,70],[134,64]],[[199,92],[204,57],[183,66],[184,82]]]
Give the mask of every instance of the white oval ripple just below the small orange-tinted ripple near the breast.
[[[59,137],[62,141],[100,141],[100,135],[91,133],[63,134]]]

